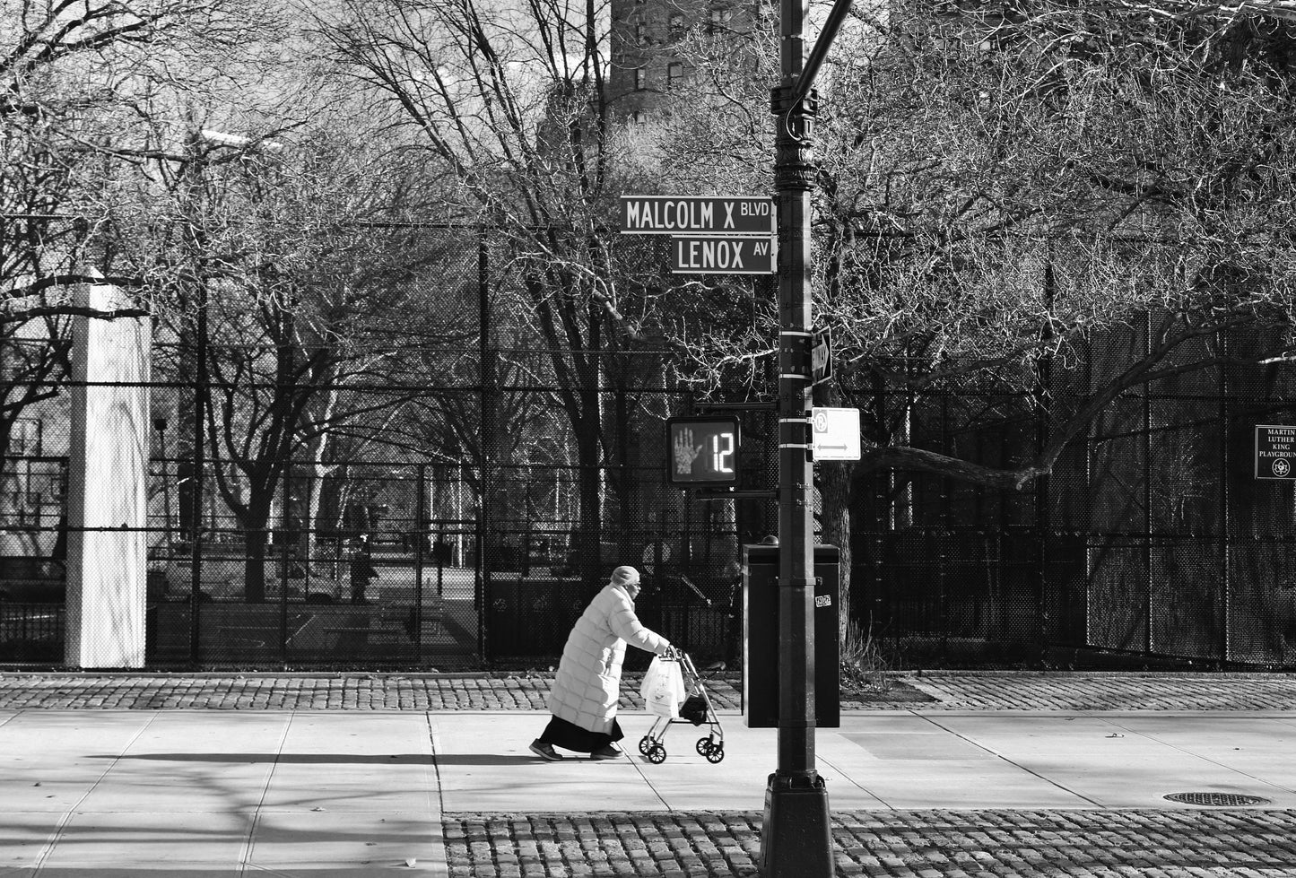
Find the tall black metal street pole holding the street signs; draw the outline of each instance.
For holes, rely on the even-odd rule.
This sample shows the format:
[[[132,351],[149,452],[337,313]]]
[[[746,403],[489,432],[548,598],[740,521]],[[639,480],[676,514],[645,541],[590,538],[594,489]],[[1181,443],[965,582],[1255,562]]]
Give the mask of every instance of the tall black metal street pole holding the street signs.
[[[783,0],[783,79],[775,118],[779,236],[779,763],[765,791],[766,878],[833,874],[828,790],[814,751],[814,519],[810,508],[810,128],[815,95],[802,80],[802,0]],[[844,6],[845,4],[839,4]],[[828,40],[831,35],[826,34]],[[827,43],[816,57],[827,51]],[[813,74],[811,74],[813,75]]]

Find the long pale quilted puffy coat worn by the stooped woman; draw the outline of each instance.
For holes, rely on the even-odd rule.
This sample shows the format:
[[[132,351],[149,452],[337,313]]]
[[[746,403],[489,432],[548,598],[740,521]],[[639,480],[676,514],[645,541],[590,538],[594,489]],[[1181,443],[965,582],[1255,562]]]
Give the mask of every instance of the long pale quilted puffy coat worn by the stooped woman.
[[[617,716],[627,641],[658,654],[670,646],[665,637],[643,627],[630,594],[609,584],[590,601],[568,635],[550,690],[550,712],[590,732],[609,732]]]

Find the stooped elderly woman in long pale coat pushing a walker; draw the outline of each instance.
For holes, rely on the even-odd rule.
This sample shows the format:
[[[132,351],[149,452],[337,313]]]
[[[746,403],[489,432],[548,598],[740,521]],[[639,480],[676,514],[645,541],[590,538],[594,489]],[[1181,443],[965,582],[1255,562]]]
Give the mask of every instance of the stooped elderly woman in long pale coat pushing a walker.
[[[555,747],[587,752],[592,759],[621,755],[613,743],[625,737],[617,723],[617,699],[626,644],[657,655],[671,649],[665,637],[639,622],[635,615],[638,596],[639,571],[617,567],[612,580],[577,620],[550,690],[548,707],[553,717],[543,734],[531,742],[531,752],[540,759],[562,759]]]

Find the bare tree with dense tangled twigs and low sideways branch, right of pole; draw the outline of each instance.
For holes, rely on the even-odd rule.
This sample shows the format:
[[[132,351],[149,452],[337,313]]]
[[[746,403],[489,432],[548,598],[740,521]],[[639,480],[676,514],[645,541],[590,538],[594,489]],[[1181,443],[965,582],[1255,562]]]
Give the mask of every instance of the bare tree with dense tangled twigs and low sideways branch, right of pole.
[[[859,464],[820,466],[828,540],[849,548],[867,473],[894,473],[901,493],[923,471],[1020,490],[1133,388],[1290,351],[1290,25],[1181,12],[857,14],[815,132],[815,311],[840,376],[823,401],[861,408],[866,433]],[[691,44],[696,88],[654,133],[662,174],[767,181],[771,137],[753,107],[772,82],[770,41],[759,22],[736,36],[736,49],[732,36]],[[700,126],[714,135],[697,137]],[[750,332],[683,339],[680,377],[765,392],[757,366],[774,326],[767,308]],[[1121,326],[1146,329],[1147,343],[1120,361],[1093,348]],[[1245,326],[1274,330],[1245,354],[1216,344]],[[1051,399],[1050,369],[1095,357],[1078,403]],[[916,447],[915,405],[940,388],[1024,399],[1047,431],[1001,462]],[[969,407],[967,426],[1021,414]]]

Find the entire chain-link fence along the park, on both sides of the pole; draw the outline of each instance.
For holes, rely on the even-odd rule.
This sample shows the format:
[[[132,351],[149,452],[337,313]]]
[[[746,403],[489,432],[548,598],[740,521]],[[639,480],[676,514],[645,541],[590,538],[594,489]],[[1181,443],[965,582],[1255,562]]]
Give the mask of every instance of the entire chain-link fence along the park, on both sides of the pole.
[[[631,316],[614,308],[604,334],[566,333],[500,236],[421,234],[417,269],[393,281],[404,295],[360,302],[346,321],[218,285],[205,310],[158,322],[139,388],[148,663],[544,664],[618,563],[643,570],[649,625],[699,657],[736,658],[740,546],[776,515],[770,500],[665,483],[666,418],[695,411],[667,382],[674,354],[648,333],[617,341],[629,333],[607,321]],[[662,247],[627,245],[627,263],[660,271]],[[699,286],[714,308],[708,297],[732,312],[732,289]],[[69,332],[0,354],[0,378],[27,400],[3,425],[6,663],[64,660],[69,497],[84,488],[69,484],[71,400],[105,383],[29,365],[41,346],[66,357]],[[990,466],[1029,457],[1146,333],[1091,339],[1032,392],[905,391],[902,439]],[[1209,339],[1239,355],[1264,341]],[[901,395],[842,381],[857,404]],[[851,615],[906,663],[1102,651],[1291,666],[1296,506],[1290,483],[1253,478],[1251,443],[1253,425],[1292,421],[1293,381],[1283,366],[1221,365],[1134,387],[1020,491],[855,478]],[[771,413],[740,417],[744,487],[769,488]]]

